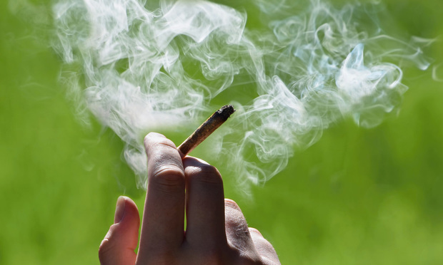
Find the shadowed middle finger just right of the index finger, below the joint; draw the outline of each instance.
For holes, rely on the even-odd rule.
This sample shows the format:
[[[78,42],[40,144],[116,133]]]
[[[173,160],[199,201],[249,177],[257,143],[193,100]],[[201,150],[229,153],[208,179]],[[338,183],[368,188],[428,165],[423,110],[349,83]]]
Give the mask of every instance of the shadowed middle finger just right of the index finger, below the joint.
[[[199,249],[226,246],[224,193],[215,167],[194,157],[183,160],[186,176],[186,241]]]

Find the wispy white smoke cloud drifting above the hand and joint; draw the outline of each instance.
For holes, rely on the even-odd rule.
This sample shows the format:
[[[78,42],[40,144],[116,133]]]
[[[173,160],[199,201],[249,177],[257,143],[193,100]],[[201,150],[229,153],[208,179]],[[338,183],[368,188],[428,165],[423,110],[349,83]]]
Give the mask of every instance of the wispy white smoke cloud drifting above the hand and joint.
[[[251,0],[237,9],[197,0],[59,0],[53,48],[79,113],[89,110],[126,143],[138,187],[146,187],[146,132],[191,132],[227,103],[237,112],[212,137],[211,152],[239,183],[262,184],[294,147],[312,145],[339,120],[379,125],[407,90],[401,64],[429,66],[420,48],[427,41],[388,36],[381,9],[318,0]]]

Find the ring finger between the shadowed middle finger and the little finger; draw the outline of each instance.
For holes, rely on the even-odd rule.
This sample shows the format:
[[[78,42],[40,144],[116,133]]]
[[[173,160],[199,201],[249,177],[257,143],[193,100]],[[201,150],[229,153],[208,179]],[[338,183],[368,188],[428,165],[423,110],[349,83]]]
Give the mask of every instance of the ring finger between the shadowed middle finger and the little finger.
[[[225,229],[229,244],[249,256],[257,256],[242,210],[232,199],[224,200]]]

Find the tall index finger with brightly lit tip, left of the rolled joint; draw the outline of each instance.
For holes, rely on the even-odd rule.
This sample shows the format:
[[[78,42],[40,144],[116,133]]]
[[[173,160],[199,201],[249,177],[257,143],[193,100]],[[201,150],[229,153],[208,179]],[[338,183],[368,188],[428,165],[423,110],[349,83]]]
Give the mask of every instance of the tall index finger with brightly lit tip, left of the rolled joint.
[[[184,170],[171,140],[149,133],[144,139],[148,157],[148,187],[141,226],[139,257],[173,251],[184,237]],[[145,259],[146,258],[146,259]]]

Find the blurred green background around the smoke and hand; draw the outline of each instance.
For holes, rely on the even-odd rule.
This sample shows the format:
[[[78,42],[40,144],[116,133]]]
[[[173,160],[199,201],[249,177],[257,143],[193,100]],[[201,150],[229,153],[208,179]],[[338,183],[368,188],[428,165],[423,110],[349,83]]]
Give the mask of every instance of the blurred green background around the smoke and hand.
[[[405,35],[443,33],[442,1],[391,0],[387,9]],[[119,138],[76,120],[57,80],[61,61],[36,36],[44,14],[15,13],[1,1],[0,264],[98,264],[117,197],[142,209],[144,192]],[[427,54],[443,62],[442,43]],[[379,127],[334,125],[253,199],[224,175],[226,196],[282,264],[443,264],[443,83],[432,69],[404,72],[401,112]]]

